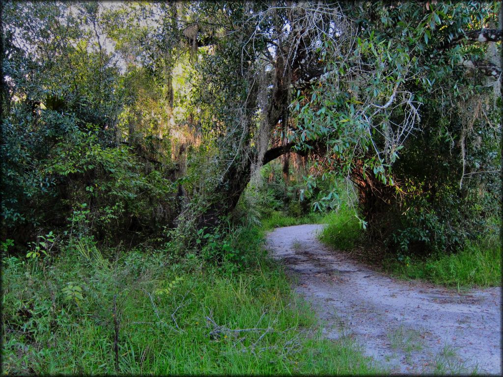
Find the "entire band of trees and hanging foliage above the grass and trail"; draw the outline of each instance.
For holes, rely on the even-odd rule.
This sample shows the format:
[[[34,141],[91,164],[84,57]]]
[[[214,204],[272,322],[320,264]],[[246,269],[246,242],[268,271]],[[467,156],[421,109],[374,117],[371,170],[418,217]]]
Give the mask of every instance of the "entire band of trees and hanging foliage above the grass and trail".
[[[3,2],[2,238],[192,242],[300,158],[312,209],[355,191],[370,241],[456,250],[501,214],[501,12]]]

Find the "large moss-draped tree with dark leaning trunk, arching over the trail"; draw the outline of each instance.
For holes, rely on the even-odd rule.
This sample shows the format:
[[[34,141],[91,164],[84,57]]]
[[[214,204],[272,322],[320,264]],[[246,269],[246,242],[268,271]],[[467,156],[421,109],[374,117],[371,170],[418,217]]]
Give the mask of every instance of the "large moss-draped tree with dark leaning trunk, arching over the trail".
[[[480,189],[476,177],[492,182],[485,208],[494,208],[499,190],[492,93],[501,70],[487,60],[487,45],[501,40],[500,29],[488,28],[498,25],[498,9],[476,2],[189,7],[190,21],[177,25],[182,41],[199,49],[196,127],[218,151],[212,203],[200,222],[215,224],[232,211],[254,169],[284,154],[311,154],[324,157],[323,177],[356,185],[370,235],[402,249],[459,246],[470,227],[483,227],[471,221],[480,213],[470,194]],[[478,109],[475,123],[467,104]],[[467,163],[475,133],[484,141],[470,145]],[[397,163],[400,155],[406,162]]]

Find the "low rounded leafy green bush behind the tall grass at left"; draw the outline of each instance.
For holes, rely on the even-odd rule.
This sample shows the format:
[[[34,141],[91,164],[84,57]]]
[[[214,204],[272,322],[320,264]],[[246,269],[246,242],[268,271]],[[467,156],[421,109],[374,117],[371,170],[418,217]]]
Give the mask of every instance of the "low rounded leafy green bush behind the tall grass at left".
[[[46,129],[28,137],[9,123],[16,119],[3,124],[2,217],[5,231],[18,235],[15,241],[33,239],[38,227],[117,238],[134,227],[158,230],[172,219],[175,185],[161,172],[145,173],[128,147],[104,145],[98,127],[81,131],[72,116],[56,117],[65,132],[54,134],[59,123],[51,124],[55,116],[46,112]]]

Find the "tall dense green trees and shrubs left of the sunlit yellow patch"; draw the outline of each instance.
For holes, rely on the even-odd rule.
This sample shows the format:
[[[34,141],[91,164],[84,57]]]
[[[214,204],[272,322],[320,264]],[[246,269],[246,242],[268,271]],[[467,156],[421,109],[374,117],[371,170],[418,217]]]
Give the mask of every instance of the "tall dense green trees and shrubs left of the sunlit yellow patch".
[[[103,22],[97,7],[83,4],[64,16],[70,5],[6,4],[4,239],[27,242],[39,231],[72,235],[78,228],[79,235],[117,240],[130,229],[162,229],[175,217],[170,156],[148,150],[149,132],[157,130],[147,128],[155,119],[144,98],[134,109],[147,112],[135,119],[147,128],[134,130],[135,137],[143,131],[141,146],[123,137],[131,129],[123,120],[152,79],[142,68],[121,73],[117,57],[93,39]],[[159,166],[149,166],[152,160]]]

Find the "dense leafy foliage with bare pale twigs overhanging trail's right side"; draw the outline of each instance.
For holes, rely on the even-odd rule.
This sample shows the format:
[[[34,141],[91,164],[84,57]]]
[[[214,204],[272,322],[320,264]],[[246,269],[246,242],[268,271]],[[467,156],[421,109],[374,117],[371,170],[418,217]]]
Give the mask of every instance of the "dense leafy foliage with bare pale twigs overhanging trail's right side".
[[[488,80],[459,63],[494,59],[501,46],[450,44],[496,25],[497,12],[476,3],[351,8],[354,55],[331,62],[310,98],[299,93],[298,137],[327,139],[330,173],[358,187],[370,239],[401,252],[456,250],[500,217],[500,70]]]

